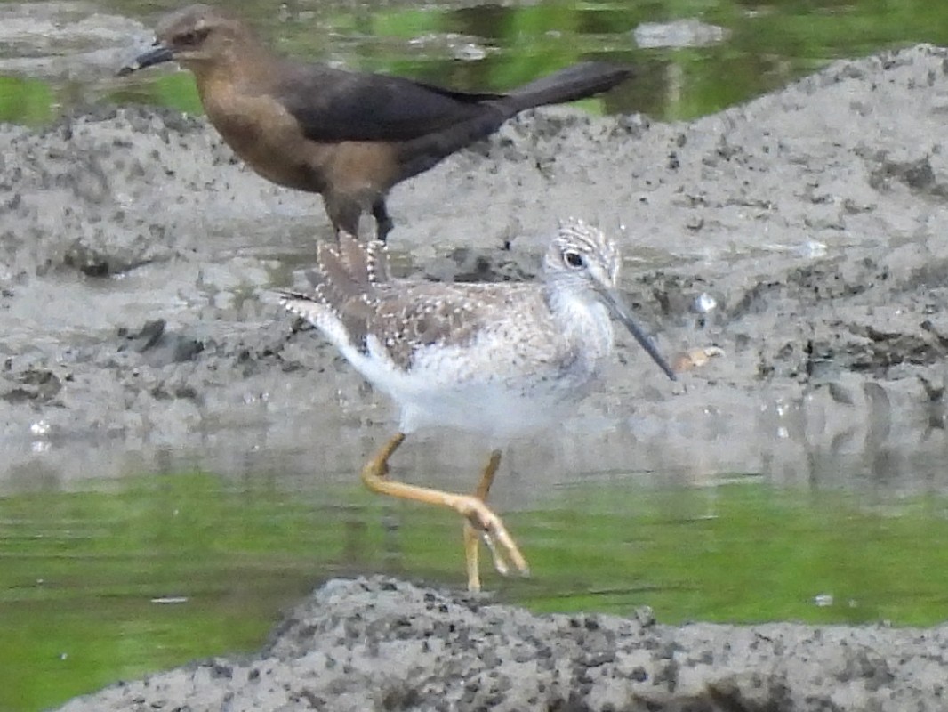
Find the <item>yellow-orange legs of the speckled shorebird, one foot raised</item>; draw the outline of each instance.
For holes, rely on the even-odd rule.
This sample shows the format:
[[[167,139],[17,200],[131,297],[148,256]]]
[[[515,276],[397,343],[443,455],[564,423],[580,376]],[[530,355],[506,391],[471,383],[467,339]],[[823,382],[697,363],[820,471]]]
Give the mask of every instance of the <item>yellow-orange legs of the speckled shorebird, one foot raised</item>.
[[[491,455],[487,467],[484,468],[481,484],[478,486],[475,495],[455,495],[450,492],[443,492],[442,490],[435,490],[429,487],[418,487],[404,482],[393,482],[388,478],[389,458],[392,457],[392,453],[398,449],[398,446],[402,444],[404,440],[405,433],[397,433],[391,440],[385,443],[373,459],[370,459],[366,463],[365,467],[362,468],[362,481],[365,482],[366,487],[382,495],[391,495],[392,497],[400,497],[402,499],[413,499],[417,502],[425,502],[427,504],[435,504],[453,509],[459,515],[464,516],[471,523],[474,530],[482,531],[485,538],[493,542],[491,551],[494,554],[494,564],[497,566],[498,571],[501,571],[501,573],[507,571],[506,560],[509,558],[522,575],[529,575],[530,569],[527,567],[526,559],[523,558],[523,554],[520,553],[520,549],[517,547],[517,544],[514,543],[513,538],[507,533],[507,529],[503,526],[501,517],[491,512],[487,508],[487,505],[483,503],[483,497],[481,497],[482,492],[483,496],[486,497],[487,490],[490,489],[490,483],[494,478],[494,472],[497,470],[497,464],[500,464],[501,461],[500,453],[497,454],[497,461],[493,464],[493,467],[491,465],[494,463],[495,457]],[[467,550],[466,543],[465,550]],[[468,552],[465,551],[465,553]],[[469,590],[478,590],[476,587],[480,587],[478,577],[475,577],[474,580],[470,578],[469,562],[467,587]]]

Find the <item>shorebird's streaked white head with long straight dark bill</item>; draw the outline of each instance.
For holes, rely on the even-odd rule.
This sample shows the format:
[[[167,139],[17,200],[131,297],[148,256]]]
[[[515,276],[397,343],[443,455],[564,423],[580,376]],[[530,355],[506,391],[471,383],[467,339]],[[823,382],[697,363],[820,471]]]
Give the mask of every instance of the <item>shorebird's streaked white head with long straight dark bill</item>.
[[[615,241],[583,220],[569,219],[559,228],[543,262],[548,283],[557,290],[585,293],[601,302],[629,329],[639,345],[672,381],[675,372],[646,333],[632,319],[617,288],[622,258]]]

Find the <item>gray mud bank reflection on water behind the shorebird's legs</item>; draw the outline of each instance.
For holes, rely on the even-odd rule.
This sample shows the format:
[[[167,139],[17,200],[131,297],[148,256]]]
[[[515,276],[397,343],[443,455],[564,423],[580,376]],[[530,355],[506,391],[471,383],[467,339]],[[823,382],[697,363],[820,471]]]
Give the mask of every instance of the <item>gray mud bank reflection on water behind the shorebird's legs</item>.
[[[117,446],[92,434],[77,440],[34,428],[25,438],[4,440],[0,495],[82,490],[92,479],[195,470],[272,479],[300,492],[356,486],[362,460],[391,435],[392,411],[341,363],[323,377],[337,380],[337,403],[275,391],[233,408],[227,422],[205,421],[199,430],[175,433],[174,446],[163,442],[160,430],[144,430]],[[747,473],[781,487],[871,489],[892,497],[948,493],[948,473],[940,467],[948,444],[940,422],[917,404],[902,403],[891,384],[863,385],[854,377],[850,388],[846,379],[789,398],[767,386],[735,394],[709,384],[679,396],[649,396],[645,386],[630,395],[611,392],[607,377],[576,419],[509,446],[497,492],[504,507],[529,510],[545,507],[551,492],[577,482],[628,478],[648,487],[711,486]],[[474,436],[428,432],[413,436],[403,450],[397,465],[419,483],[464,490],[483,464],[485,445]]]

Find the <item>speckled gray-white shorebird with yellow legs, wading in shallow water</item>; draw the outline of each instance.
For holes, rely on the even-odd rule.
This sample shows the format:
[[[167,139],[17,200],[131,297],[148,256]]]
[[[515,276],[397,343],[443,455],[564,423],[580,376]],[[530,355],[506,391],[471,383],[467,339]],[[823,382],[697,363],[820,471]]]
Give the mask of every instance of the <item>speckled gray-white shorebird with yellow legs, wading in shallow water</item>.
[[[501,451],[472,495],[393,481],[389,459],[407,435],[447,426],[496,447],[562,419],[611,354],[610,317],[674,380],[675,373],[629,315],[616,289],[615,242],[581,220],[565,222],[543,260],[542,282],[447,284],[393,279],[384,243],[339,234],[319,244],[313,294],[281,291],[286,309],[315,325],[400,407],[398,432],[362,468],[374,492],[440,505],[465,519],[468,590],[480,590],[478,539],[501,574],[527,575],[526,559],[485,500]]]

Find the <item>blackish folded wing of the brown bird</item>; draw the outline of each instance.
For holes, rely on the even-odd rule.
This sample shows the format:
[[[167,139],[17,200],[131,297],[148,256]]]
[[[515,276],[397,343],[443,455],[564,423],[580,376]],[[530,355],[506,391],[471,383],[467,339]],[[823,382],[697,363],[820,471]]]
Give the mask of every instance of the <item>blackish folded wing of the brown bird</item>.
[[[495,113],[490,102],[505,98],[314,65],[287,66],[276,94],[307,139],[325,142],[410,141]]]

